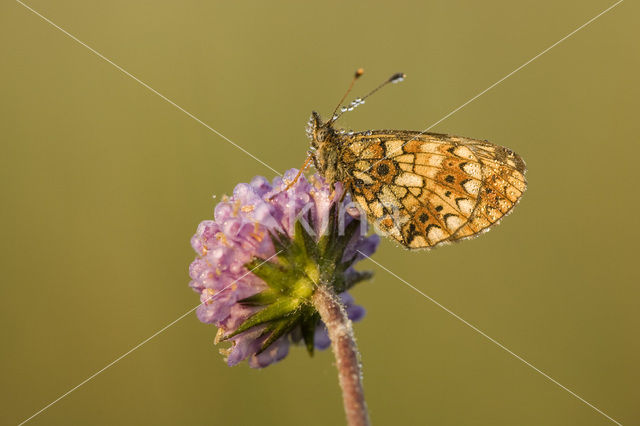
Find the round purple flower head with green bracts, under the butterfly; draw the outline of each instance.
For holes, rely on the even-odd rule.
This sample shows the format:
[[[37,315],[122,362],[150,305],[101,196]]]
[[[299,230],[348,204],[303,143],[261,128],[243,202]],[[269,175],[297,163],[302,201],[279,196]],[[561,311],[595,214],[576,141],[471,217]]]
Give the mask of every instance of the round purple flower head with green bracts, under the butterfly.
[[[309,303],[317,281],[340,293],[351,320],[364,316],[345,290],[370,276],[353,264],[363,258],[358,251],[375,251],[378,237],[365,236],[366,219],[348,208],[353,204],[340,183],[330,188],[317,175],[301,176],[284,191],[296,174],[237,185],[191,239],[197,315],[219,328],[216,342],[231,342],[221,351],[230,366],[248,359],[251,367],[266,367],[303,339],[310,352],[327,348],[325,326]]]

